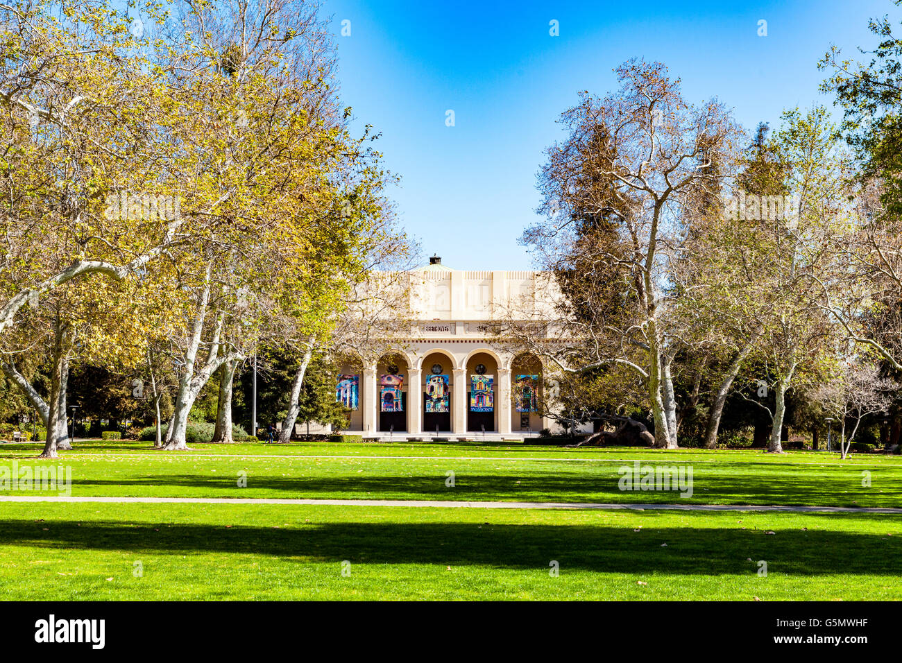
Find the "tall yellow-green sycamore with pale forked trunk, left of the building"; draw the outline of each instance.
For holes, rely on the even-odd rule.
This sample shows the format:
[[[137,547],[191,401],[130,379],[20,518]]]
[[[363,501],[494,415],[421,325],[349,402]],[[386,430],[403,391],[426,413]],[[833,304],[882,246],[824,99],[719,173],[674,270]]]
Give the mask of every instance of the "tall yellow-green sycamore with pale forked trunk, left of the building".
[[[378,216],[370,192],[383,179],[379,155],[366,135],[349,134],[350,110],[337,109],[334,52],[314,9],[183,5],[189,29],[170,75],[191,100],[190,197],[207,206],[211,232],[172,252],[190,306],[174,344],[179,390],[164,448],[186,448],[191,406],[216,371],[217,439],[228,441],[236,364],[273,338],[300,348],[302,381],[305,352],[327,336],[342,282],[365,254],[360,237]]]

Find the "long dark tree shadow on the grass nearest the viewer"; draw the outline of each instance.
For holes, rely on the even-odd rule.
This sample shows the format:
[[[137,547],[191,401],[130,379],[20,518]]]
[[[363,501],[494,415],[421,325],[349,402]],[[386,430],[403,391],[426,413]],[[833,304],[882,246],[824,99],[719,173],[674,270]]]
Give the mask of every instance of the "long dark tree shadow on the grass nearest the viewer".
[[[364,515],[364,512],[361,512]],[[485,516],[492,520],[492,515]],[[842,519],[842,516],[832,518]],[[858,520],[867,519],[855,515]],[[886,518],[886,517],[883,517]],[[47,529],[44,529],[47,528]],[[153,554],[255,554],[297,561],[561,567],[604,573],[898,576],[902,539],[876,533],[658,528],[489,522],[325,522],[281,528],[236,524],[0,520],[0,546]],[[667,546],[662,544],[667,543]],[[750,561],[751,560],[751,561]]]

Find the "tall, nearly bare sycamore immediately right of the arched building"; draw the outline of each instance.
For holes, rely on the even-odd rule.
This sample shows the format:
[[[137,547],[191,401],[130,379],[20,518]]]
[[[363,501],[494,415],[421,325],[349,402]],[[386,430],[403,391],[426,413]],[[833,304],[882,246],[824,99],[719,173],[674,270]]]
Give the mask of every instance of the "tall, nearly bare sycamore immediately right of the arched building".
[[[679,80],[659,63],[631,60],[616,73],[619,90],[603,98],[584,93],[564,113],[568,136],[548,149],[539,175],[539,211],[548,221],[530,228],[524,242],[549,272],[588,272],[578,288],[566,292],[565,284],[557,316],[532,323],[553,327],[559,342],[538,335],[527,345],[566,373],[628,367],[643,383],[656,445],[676,447],[671,371],[679,340],[670,272],[686,236],[682,197],[690,188],[723,189],[741,130],[716,100],[686,102]],[[715,161],[720,168],[712,168]],[[621,288],[619,301],[596,296],[610,265],[618,268],[611,285]],[[618,318],[605,315],[611,306],[622,308]],[[574,307],[583,314],[571,315]]]

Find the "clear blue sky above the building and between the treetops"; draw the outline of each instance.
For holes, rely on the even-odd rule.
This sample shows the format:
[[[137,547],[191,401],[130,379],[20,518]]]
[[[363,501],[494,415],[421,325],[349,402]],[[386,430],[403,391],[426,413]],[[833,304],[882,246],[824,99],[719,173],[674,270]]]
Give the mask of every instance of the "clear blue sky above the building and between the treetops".
[[[830,44],[854,55],[876,44],[870,17],[902,17],[889,0],[326,0],[324,11],[342,101],[382,133],[385,165],[401,177],[390,191],[400,222],[424,256],[469,270],[533,267],[518,239],[538,218],[536,173],[563,135],[557,117],[577,91],[616,87],[621,62],[660,60],[688,100],[718,97],[747,128],[776,126],[784,108],[832,104],[816,67]]]

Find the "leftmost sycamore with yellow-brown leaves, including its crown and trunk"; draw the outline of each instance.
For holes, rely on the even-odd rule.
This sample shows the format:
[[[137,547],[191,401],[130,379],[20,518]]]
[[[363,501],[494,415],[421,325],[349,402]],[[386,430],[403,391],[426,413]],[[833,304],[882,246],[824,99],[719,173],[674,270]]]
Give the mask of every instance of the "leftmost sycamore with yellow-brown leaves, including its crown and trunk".
[[[59,18],[49,6],[3,5],[0,19],[0,104],[7,111],[0,353],[12,358],[23,350],[16,343],[23,335],[14,334],[26,323],[20,314],[51,300],[59,315],[47,318],[53,365],[43,456],[54,457],[65,445],[66,362],[78,328],[64,314],[83,301],[74,288],[92,275],[145,275],[192,235],[207,235],[217,219],[208,198],[186,196],[198,166],[191,157],[210,134],[198,131],[198,108],[209,97],[173,85],[167,71],[175,45],[130,32],[109,3],[63,4]],[[186,145],[193,148],[185,152]],[[126,324],[109,333],[122,340],[133,332]]]

